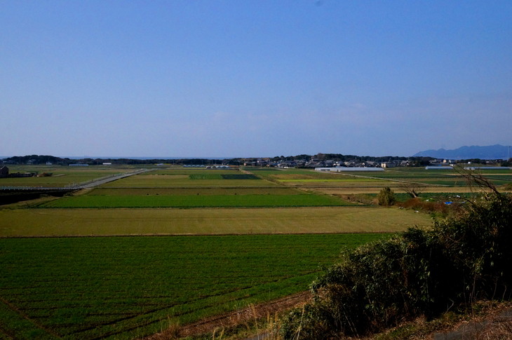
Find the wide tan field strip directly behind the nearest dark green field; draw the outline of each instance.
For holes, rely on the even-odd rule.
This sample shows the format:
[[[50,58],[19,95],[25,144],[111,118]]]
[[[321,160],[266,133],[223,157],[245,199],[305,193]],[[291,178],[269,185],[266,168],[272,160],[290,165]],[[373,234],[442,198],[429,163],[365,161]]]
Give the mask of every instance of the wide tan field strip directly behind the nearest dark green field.
[[[0,210],[0,237],[382,233],[430,224],[426,214],[372,207]]]

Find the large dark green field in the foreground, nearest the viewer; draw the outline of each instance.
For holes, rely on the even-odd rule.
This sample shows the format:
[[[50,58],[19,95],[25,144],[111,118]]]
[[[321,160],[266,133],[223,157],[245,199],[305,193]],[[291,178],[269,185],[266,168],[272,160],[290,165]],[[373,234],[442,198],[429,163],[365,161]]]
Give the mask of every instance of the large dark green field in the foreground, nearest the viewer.
[[[133,339],[308,288],[382,234],[0,239],[0,336]]]

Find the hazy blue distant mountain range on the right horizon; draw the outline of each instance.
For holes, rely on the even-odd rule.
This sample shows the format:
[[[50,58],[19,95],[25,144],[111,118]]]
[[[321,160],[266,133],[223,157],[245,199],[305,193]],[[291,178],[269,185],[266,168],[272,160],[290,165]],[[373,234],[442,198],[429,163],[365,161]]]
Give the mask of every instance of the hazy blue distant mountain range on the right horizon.
[[[446,150],[426,150],[413,155],[415,157],[433,157],[443,159],[508,159],[510,158],[512,147],[504,147],[503,145],[490,145],[488,147],[459,147],[459,149]]]

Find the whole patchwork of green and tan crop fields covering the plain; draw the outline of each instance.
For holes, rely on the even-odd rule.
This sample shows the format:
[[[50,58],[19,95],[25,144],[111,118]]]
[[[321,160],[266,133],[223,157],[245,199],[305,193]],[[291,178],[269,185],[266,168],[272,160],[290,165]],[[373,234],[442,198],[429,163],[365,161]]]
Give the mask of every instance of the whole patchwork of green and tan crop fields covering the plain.
[[[65,168],[36,179],[66,185],[133,170]],[[512,172],[490,175],[512,181]],[[469,191],[461,180],[425,170],[159,167],[0,206],[0,339],[133,339],[307,290],[342,247],[431,224],[340,193],[400,193],[413,182],[448,196]]]

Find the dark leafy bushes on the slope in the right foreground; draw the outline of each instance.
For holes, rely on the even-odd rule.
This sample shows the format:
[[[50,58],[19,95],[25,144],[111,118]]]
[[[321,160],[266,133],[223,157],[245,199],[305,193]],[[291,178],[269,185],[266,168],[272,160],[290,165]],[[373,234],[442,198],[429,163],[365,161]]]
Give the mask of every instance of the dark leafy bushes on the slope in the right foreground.
[[[285,320],[285,339],[368,334],[476,299],[510,299],[511,216],[512,197],[492,190],[431,229],[346,252],[311,285],[314,302]]]

